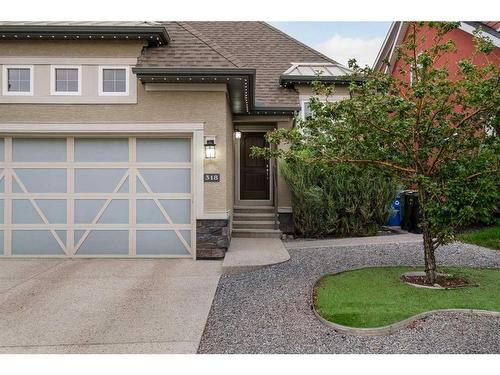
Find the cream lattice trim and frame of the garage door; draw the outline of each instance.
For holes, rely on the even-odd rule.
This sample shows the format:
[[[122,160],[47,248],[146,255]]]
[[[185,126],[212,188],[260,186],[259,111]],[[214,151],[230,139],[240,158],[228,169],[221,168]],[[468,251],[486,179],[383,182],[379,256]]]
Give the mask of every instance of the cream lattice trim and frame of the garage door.
[[[177,126],[174,127],[172,124],[167,124],[166,126],[163,125],[163,127],[159,124],[150,124],[150,126],[146,126],[143,128],[143,124],[140,125],[134,125],[134,130],[136,130],[136,133],[141,133],[144,135],[132,135],[130,136],[129,134],[123,134],[123,131],[125,130],[130,130],[130,124],[127,124],[126,126],[117,126],[117,125],[105,125],[106,129],[102,129],[102,132],[96,131],[96,126],[90,126],[88,125],[83,125],[84,127],[87,127],[85,130],[87,130],[84,133],[85,138],[103,138],[102,133],[109,134],[110,137],[113,138],[127,138],[129,142],[129,161],[128,163],[113,163],[113,162],[74,162],[73,161],[73,156],[74,156],[74,139],[75,136],[63,136],[60,134],[61,131],[64,133],[83,133],[81,128],[77,129],[78,127],[75,127],[74,125],[68,125],[71,130],[71,132],[68,132],[67,130],[64,131],[61,127],[61,125],[57,126],[57,137],[65,138],[67,140],[66,145],[67,145],[67,160],[66,162],[43,162],[43,163],[27,163],[27,162],[12,162],[12,135],[14,135],[15,138],[21,138],[22,135],[24,137],[28,138],[33,138],[33,127],[34,125],[30,125],[29,128],[23,128],[21,129],[20,127],[17,127],[16,129],[13,129],[12,127],[7,130],[2,127],[2,130],[7,130],[8,135],[2,136],[4,138],[4,149],[5,149],[5,155],[4,155],[4,162],[2,163],[2,169],[3,172],[0,175],[0,179],[5,179],[5,193],[2,195],[5,199],[5,207],[4,207],[4,224],[2,225],[4,229],[4,256],[10,256],[11,255],[11,236],[12,236],[12,229],[15,228],[16,230],[29,230],[29,229],[39,229],[40,224],[12,224],[12,199],[15,198],[24,198],[24,199],[29,199],[31,204],[33,205],[34,209],[37,211],[37,213],[40,215],[42,218],[44,224],[42,225],[45,229],[50,230],[50,232],[53,234],[54,238],[56,238],[57,242],[65,251],[65,255],[62,255],[62,257],[196,257],[196,217],[200,211],[202,211],[202,205],[203,205],[203,184],[200,184],[199,182],[202,181],[202,162],[203,162],[203,156],[202,156],[202,150],[203,150],[203,125],[202,124],[195,124],[195,126],[189,127],[185,126],[186,124],[183,124],[182,126]],[[35,125],[36,126],[36,125]],[[46,125],[44,130],[47,130],[47,127],[50,127],[50,125]],[[113,127],[113,132],[109,131],[109,128]],[[120,128],[119,131],[118,128]],[[159,132],[158,129],[163,129],[163,132]],[[193,129],[194,128],[194,129]],[[137,131],[137,129],[140,129],[141,131]],[[191,131],[190,131],[191,130]],[[2,132],[4,133],[4,132]],[[45,132],[44,135],[50,134],[51,132]],[[91,133],[89,136],[88,133]],[[119,133],[119,134],[117,134]],[[188,134],[188,137],[191,139],[191,163],[175,163],[175,162],[141,162],[138,163],[136,161],[136,139],[137,138],[147,138],[148,134],[151,136],[151,133],[154,133],[155,138],[158,136],[164,136],[164,137],[172,137],[172,138],[187,138],[186,133]],[[182,133],[182,135],[181,135]],[[190,134],[189,134],[190,133]],[[4,133],[5,134],[5,133]],[[97,135],[99,134],[99,135]],[[97,135],[97,136],[96,136]],[[49,138],[54,138],[55,135],[52,133],[48,136]],[[46,138],[46,136],[41,136],[40,138]],[[127,165],[125,169],[127,169],[126,173],[122,176],[120,179],[119,183],[115,186],[114,191],[109,194],[103,194],[103,193],[74,193],[74,181],[75,181],[75,169],[77,168],[124,168],[124,166]],[[5,167],[5,168],[3,168]],[[27,196],[27,190],[26,187],[23,185],[21,179],[16,175],[14,172],[16,167],[23,167],[23,168],[63,168],[66,169],[67,171],[67,192],[66,193],[29,193]],[[190,169],[191,170],[191,181],[190,181],[190,193],[153,193],[151,190],[151,187],[148,185],[147,181],[143,178],[142,174],[138,171],[139,168],[142,169],[148,169],[148,168],[160,168],[160,169],[170,169],[170,168],[185,168],[185,169]],[[135,177],[137,177],[141,183],[144,185],[144,188],[146,189],[145,193],[136,193],[135,192],[135,183],[130,183],[130,190],[128,193],[118,193],[121,185],[127,180],[127,178],[130,181],[135,181]],[[17,185],[21,188],[23,191],[22,193],[12,193],[12,181],[15,181]],[[70,202],[67,205],[67,224],[66,225],[58,225],[58,224],[49,224],[47,218],[44,216],[43,211],[38,207],[37,202],[35,201],[36,198],[45,198],[45,199],[67,199],[68,198],[68,192],[71,193],[71,196],[68,199],[68,202]],[[76,199],[91,199],[91,198],[99,198],[99,199],[106,199],[106,202],[104,206],[99,210],[97,213],[96,217],[92,220],[90,224],[75,224],[73,223],[73,218],[74,218],[74,201]],[[103,214],[103,212],[106,210],[110,202],[112,202],[112,199],[127,199],[129,202],[129,222],[124,223],[124,224],[97,224],[97,221]],[[136,200],[140,198],[149,198],[154,201],[156,206],[159,208],[161,211],[162,215],[165,217],[166,221],[168,224],[137,224],[136,223]],[[189,224],[174,224],[172,220],[169,217],[168,212],[166,212],[165,208],[163,205],[160,203],[161,199],[191,199],[191,222]],[[67,242],[66,246],[62,243],[61,239],[59,238],[56,230],[67,230]],[[90,230],[112,230],[112,229],[121,229],[121,230],[129,230],[129,252],[128,255],[104,255],[104,254],[98,254],[98,255],[78,255],[76,252],[78,251],[78,248],[84,243],[85,239],[89,235]],[[136,244],[136,231],[137,230],[158,230],[158,229],[170,229],[175,232],[177,235],[178,239],[183,243],[183,245],[186,247],[187,251],[189,252],[190,255],[137,255],[136,254],[136,249],[135,249],[135,244]],[[76,243],[73,243],[73,234],[75,230],[85,230],[85,233],[83,236],[76,241]],[[190,242],[191,245],[187,243],[187,241],[183,238],[182,234],[180,233],[181,230],[190,230],[191,231],[191,238]],[[75,255],[76,254],[76,255]],[[33,257],[37,255],[15,255],[16,257]],[[43,257],[61,257],[61,255],[43,255]]]

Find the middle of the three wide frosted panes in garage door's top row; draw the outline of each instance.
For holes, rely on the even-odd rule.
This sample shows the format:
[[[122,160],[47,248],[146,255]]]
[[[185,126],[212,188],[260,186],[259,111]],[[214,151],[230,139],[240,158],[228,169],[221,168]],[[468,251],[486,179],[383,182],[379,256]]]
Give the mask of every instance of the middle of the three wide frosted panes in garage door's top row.
[[[128,162],[128,139],[77,138],[76,162]]]

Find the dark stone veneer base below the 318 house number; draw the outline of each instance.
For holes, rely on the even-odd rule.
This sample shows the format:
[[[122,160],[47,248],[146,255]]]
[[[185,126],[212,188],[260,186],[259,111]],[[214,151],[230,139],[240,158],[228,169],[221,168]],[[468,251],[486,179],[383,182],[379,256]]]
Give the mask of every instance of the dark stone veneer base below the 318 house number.
[[[229,220],[196,221],[196,259],[221,259],[231,242]]]

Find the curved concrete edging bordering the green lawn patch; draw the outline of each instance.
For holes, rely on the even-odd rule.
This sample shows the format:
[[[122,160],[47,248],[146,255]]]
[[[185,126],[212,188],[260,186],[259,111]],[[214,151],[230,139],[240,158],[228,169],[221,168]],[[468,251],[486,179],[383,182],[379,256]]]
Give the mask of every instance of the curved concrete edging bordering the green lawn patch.
[[[364,267],[364,268],[371,268],[371,267]],[[359,268],[358,268],[359,269]],[[355,270],[358,270],[355,269]],[[348,272],[348,271],[354,271],[354,270],[347,270],[343,272]],[[343,273],[339,272],[339,273]],[[337,274],[335,274],[337,275]],[[335,331],[338,333],[342,333],[345,335],[351,335],[351,336],[386,336],[390,335],[392,333],[395,333],[396,331],[408,327],[411,323],[437,314],[441,312],[458,312],[458,313],[469,313],[472,315],[486,315],[486,316],[493,316],[493,317],[498,317],[500,318],[500,312],[497,311],[489,311],[489,310],[478,310],[478,309],[438,309],[438,310],[430,310],[430,311],[425,311],[423,313],[419,313],[413,316],[410,316],[407,319],[401,320],[396,323],[389,324],[387,326],[382,326],[382,327],[373,327],[373,328],[356,328],[356,327],[349,327],[349,326],[344,326],[342,324],[338,323],[333,323],[330,322],[329,320],[326,320],[323,318],[317,311],[316,311],[316,306],[315,306],[315,301],[314,301],[314,289],[316,285],[318,284],[318,281],[320,281],[324,276],[321,276],[314,282],[314,286],[311,291],[311,310],[318,318],[318,320],[323,323],[325,326],[328,326],[330,328],[333,328]]]

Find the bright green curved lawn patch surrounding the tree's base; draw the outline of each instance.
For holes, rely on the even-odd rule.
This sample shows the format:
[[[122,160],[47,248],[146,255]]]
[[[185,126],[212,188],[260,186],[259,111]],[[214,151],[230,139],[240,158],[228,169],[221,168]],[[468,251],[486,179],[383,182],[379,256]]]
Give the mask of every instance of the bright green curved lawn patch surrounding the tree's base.
[[[377,267],[326,275],[315,289],[316,311],[350,327],[386,326],[437,309],[500,311],[500,270],[443,268],[477,286],[449,290],[417,288],[399,277],[412,267]]]

